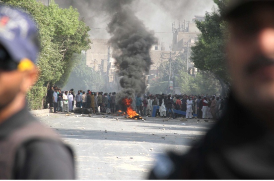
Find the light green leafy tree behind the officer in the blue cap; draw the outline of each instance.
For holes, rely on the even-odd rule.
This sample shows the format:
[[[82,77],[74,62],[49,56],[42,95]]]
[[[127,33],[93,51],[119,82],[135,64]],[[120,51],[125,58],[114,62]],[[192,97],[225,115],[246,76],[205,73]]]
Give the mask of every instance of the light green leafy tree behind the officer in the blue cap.
[[[39,29],[41,51],[37,65],[40,76],[36,86],[48,84],[63,87],[75,62],[73,53],[90,48],[90,30],[83,20],[79,20],[77,9],[62,9],[51,0],[49,6],[36,0],[0,0],[7,5],[19,7],[29,13]]]

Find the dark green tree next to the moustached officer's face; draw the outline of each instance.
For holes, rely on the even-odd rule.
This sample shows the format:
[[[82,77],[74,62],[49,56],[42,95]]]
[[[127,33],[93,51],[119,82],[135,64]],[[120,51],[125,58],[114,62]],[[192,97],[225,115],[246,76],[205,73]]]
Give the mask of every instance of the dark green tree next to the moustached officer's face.
[[[212,12],[206,12],[205,21],[196,21],[201,34],[196,45],[191,48],[191,60],[198,69],[212,73],[220,82],[222,94],[225,94],[230,81],[225,63],[225,45],[229,36],[222,14],[228,0],[214,2],[218,9],[212,8]]]

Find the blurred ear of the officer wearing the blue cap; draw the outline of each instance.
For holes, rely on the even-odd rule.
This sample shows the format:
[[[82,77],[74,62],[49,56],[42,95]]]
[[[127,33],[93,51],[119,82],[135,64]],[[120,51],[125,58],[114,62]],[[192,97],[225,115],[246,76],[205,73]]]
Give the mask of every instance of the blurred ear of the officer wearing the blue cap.
[[[21,84],[21,91],[27,92],[31,86],[33,86],[38,80],[38,69],[34,66],[30,70],[22,71],[22,84]]]

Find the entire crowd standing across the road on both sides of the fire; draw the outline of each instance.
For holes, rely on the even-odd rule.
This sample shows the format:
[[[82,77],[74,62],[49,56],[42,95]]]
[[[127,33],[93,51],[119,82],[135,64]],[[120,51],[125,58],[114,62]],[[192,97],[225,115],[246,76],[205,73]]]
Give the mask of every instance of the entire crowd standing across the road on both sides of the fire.
[[[186,112],[186,118],[192,119],[194,114],[201,119],[218,119],[224,109],[226,99],[219,96],[201,95],[166,95],[137,94],[132,107],[141,116],[151,116],[153,105],[159,106],[156,116],[160,117],[180,117],[173,109]],[[54,113],[73,112],[73,107],[91,108],[93,113],[115,113],[120,110],[120,105],[116,103],[116,92],[92,92],[90,90],[62,91],[58,87],[50,87],[47,93],[47,102]]]

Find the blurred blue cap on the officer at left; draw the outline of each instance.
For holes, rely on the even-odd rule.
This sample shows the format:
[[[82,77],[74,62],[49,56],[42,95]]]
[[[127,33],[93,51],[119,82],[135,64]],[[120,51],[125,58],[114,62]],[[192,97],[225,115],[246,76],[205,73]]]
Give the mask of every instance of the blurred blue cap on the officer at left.
[[[0,6],[0,44],[13,61],[36,63],[40,47],[35,22],[18,9]]]

